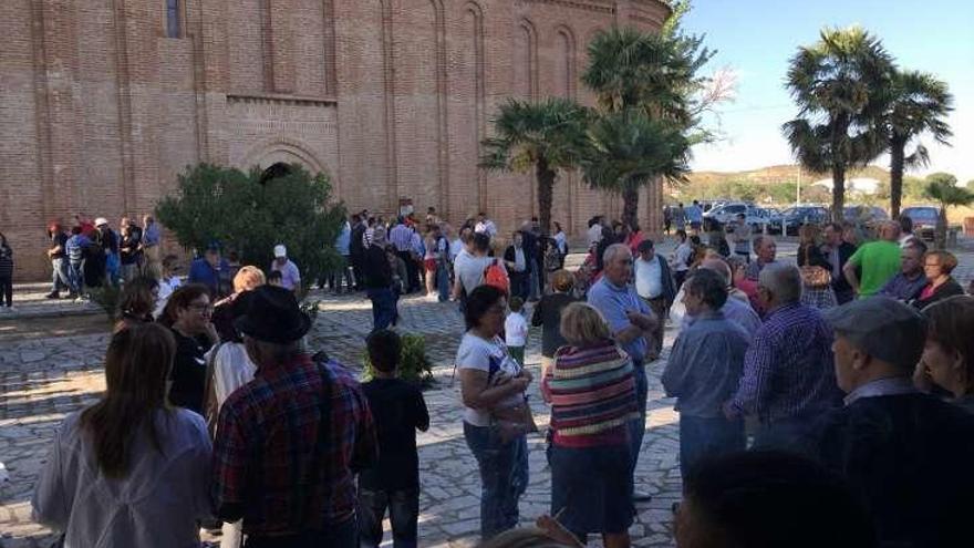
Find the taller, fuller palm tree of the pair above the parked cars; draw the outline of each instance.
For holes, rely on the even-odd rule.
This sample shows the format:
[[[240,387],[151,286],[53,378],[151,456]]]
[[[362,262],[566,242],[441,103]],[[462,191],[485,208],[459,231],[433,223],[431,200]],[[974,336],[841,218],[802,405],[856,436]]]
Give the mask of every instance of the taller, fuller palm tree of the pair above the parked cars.
[[[842,218],[846,173],[882,153],[877,131],[880,89],[893,62],[880,41],[864,30],[826,29],[820,40],[791,58],[786,87],[798,117],[783,131],[802,167],[832,174],[832,216]]]

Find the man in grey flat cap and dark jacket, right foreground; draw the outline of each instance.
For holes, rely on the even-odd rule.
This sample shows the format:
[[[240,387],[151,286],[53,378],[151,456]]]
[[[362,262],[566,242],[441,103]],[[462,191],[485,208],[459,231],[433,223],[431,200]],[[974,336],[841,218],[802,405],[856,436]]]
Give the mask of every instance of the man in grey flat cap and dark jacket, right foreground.
[[[825,312],[845,407],[825,416],[815,454],[845,475],[875,519],[879,546],[970,546],[974,417],[913,387],[926,325],[885,297]],[[828,524],[822,524],[828,526]]]

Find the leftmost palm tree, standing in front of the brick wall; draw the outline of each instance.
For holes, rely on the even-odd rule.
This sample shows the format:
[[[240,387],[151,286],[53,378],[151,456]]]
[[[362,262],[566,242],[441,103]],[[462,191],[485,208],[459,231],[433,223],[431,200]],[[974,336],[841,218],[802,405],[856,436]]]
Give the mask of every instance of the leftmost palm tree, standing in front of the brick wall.
[[[484,139],[480,167],[526,173],[538,183],[541,230],[551,228],[551,204],[559,169],[573,169],[586,154],[588,110],[574,101],[549,97],[539,103],[508,100],[494,120],[493,137]]]

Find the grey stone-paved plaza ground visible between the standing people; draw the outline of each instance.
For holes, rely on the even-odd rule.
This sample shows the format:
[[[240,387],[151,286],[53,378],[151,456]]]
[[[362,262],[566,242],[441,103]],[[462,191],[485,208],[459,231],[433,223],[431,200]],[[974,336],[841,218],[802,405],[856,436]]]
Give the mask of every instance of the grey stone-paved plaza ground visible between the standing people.
[[[785,257],[794,257],[795,246],[785,244],[779,250]],[[974,252],[963,252],[961,258],[957,279],[966,283],[974,277]],[[101,360],[108,329],[104,317],[77,316],[81,304],[44,302],[40,297],[43,288],[31,288],[29,301],[19,306],[17,319],[0,317],[0,462],[10,473],[9,483],[0,487],[0,544],[4,548],[50,544],[49,531],[30,520],[34,479],[54,428],[64,415],[93,402],[104,389]],[[315,298],[323,300],[311,333],[312,347],[325,350],[350,368],[361,369],[364,337],[371,329],[369,301],[361,296]],[[398,329],[425,337],[437,381],[425,393],[432,426],[418,436],[423,486],[419,544],[474,546],[479,527],[479,478],[463,437],[458,384],[452,382],[463,320],[455,303],[429,302],[418,297],[402,301],[401,312]],[[667,349],[673,334],[667,329]],[[532,330],[526,358],[536,378],[539,351],[540,332]],[[647,432],[636,489],[652,494],[653,499],[636,507],[636,521],[631,529],[635,546],[672,546],[670,508],[680,499],[677,415],[659,382],[665,358],[664,351],[661,360],[647,366]],[[537,383],[530,391],[538,422],[546,424],[548,411],[540,401]],[[531,436],[529,445],[531,480],[520,505],[525,524],[549,510],[550,496],[542,436]]]

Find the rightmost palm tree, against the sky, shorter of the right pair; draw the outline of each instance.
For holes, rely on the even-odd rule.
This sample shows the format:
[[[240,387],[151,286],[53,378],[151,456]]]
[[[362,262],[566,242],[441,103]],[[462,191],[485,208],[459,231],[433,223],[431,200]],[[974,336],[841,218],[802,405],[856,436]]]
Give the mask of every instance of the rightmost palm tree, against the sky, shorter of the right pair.
[[[923,133],[950,145],[953,133],[944,118],[953,111],[954,99],[946,83],[916,71],[893,70],[882,90],[883,130],[890,152],[890,215],[895,219],[903,199],[903,170],[930,163],[923,144],[918,142],[909,155],[906,146]]]

